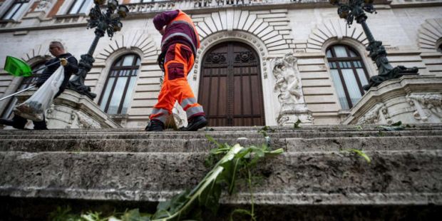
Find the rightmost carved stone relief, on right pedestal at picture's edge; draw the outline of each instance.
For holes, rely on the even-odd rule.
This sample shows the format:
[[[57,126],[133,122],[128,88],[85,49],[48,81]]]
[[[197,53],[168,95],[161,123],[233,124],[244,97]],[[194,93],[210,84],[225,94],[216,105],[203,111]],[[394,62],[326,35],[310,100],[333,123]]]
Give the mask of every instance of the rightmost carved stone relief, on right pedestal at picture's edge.
[[[442,96],[438,93],[425,93],[425,94],[408,94],[406,101],[410,106],[414,106],[416,111],[413,113],[413,117],[416,120],[428,122],[431,115],[435,115],[436,118],[442,120]]]

